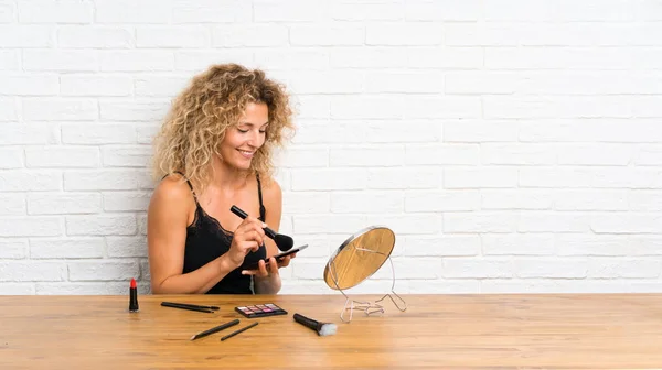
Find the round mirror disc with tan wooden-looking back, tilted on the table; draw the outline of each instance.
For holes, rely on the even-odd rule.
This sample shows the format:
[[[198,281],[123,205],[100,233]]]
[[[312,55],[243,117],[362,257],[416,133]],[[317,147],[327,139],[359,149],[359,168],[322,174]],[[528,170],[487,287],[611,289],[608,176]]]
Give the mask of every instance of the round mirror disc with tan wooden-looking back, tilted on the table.
[[[372,276],[393,251],[395,233],[382,226],[365,228],[342,242],[324,268],[324,281],[333,290],[356,286]]]

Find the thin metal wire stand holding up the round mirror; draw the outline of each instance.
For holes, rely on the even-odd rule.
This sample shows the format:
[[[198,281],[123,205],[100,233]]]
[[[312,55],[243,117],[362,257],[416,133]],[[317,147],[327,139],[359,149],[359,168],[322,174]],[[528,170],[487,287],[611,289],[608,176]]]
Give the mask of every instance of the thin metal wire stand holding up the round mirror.
[[[382,296],[380,300],[376,300],[375,302],[355,301],[355,300],[350,298],[343,292],[343,290],[340,287],[338,273],[337,273],[337,269],[335,269],[335,260],[333,260],[333,259],[330,260],[327,264],[327,269],[330,272],[331,280],[335,284],[335,289],[339,290],[340,293],[342,293],[342,295],[345,297],[345,304],[344,304],[342,312],[340,313],[340,319],[343,320],[344,323],[351,323],[354,309],[363,312],[365,314],[365,316],[370,316],[373,314],[383,314],[384,306],[381,305],[380,302],[384,301],[386,297],[391,298],[391,302],[393,302],[393,304],[397,307],[397,309],[399,309],[401,312],[405,312],[407,309],[407,303],[397,293],[395,293],[395,268],[393,266],[393,261],[391,260],[391,255],[382,253],[380,251],[374,251],[371,249],[365,249],[365,248],[360,248],[360,247],[354,247],[354,249],[356,251],[362,251],[362,252],[377,253],[377,254],[384,255],[388,260],[388,262],[391,264],[391,272],[392,272],[391,293],[386,293],[384,296]],[[394,296],[397,297],[397,300],[399,301],[399,304],[396,300],[393,298]],[[402,307],[401,307],[401,304],[403,305]],[[350,318],[345,319],[344,315],[348,311],[350,312]]]

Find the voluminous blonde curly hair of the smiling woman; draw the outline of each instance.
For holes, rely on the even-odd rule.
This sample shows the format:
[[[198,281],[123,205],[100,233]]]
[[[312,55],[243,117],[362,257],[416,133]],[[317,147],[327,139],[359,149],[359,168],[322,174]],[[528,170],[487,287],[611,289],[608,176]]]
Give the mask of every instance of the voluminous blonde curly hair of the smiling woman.
[[[154,179],[180,172],[204,189],[212,178],[212,159],[220,156],[218,144],[249,102],[264,102],[269,110],[265,143],[255,153],[249,170],[268,181],[274,172],[274,148],[282,146],[288,133],[293,133],[289,96],[263,70],[237,64],[211,66],[173,100],[154,138]]]

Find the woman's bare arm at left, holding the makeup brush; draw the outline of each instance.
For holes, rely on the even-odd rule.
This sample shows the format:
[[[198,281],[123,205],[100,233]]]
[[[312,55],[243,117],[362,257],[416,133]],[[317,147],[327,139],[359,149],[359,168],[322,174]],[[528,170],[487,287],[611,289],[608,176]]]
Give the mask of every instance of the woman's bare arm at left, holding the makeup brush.
[[[191,189],[178,176],[164,178],[151,197],[147,214],[147,242],[154,294],[206,293],[238,266],[225,253],[195,271],[182,274],[192,204]]]

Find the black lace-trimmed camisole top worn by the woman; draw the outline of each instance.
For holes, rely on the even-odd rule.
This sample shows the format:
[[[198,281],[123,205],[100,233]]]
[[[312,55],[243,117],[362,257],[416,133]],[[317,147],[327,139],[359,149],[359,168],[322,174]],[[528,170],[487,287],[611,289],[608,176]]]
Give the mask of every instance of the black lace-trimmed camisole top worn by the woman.
[[[189,181],[186,183],[193,192],[191,183]],[[265,207],[263,205],[259,176],[257,177],[257,191],[259,219],[264,222]],[[232,231],[225,230],[218,220],[204,211],[194,192],[193,198],[195,199],[195,217],[193,222],[186,227],[183,273],[195,271],[227,252],[233,238]],[[266,255],[265,246],[261,246],[256,252],[249,252],[244,262],[254,262],[266,258]],[[254,294],[252,276],[242,275],[241,268],[235,269],[209,290],[206,294]]]

